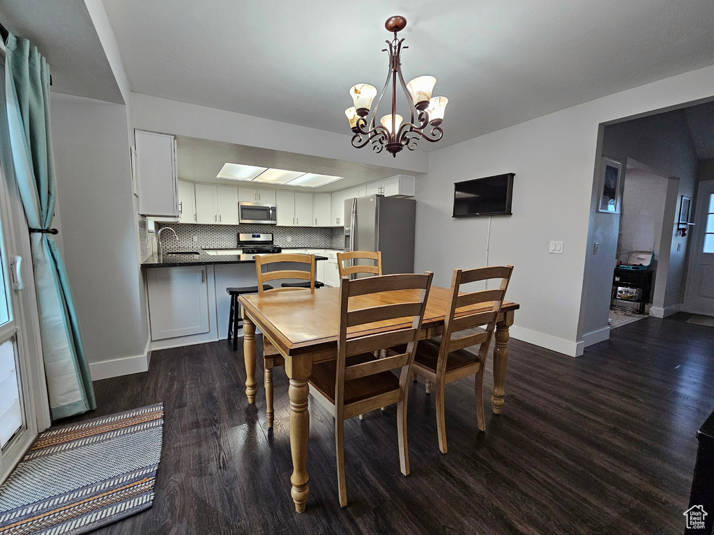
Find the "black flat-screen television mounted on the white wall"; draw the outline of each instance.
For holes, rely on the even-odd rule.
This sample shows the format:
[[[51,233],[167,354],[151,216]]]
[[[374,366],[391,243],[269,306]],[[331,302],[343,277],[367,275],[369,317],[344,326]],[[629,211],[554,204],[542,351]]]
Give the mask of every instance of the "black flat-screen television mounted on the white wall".
[[[487,176],[453,185],[453,217],[511,215],[513,177],[516,173]]]

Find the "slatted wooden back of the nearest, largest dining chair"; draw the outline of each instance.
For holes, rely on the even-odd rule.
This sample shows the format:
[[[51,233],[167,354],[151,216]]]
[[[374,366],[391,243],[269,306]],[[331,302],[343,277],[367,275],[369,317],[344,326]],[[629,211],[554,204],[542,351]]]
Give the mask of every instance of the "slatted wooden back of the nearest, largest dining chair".
[[[426,272],[424,275],[378,275],[358,280],[349,280],[346,276],[341,278],[340,330],[335,381],[335,402],[338,411],[344,403],[345,381],[401,368],[399,384],[401,389],[406,388],[408,370],[416,353],[416,342],[426,310],[432,277],[432,272]],[[396,290],[406,291],[398,294],[396,299],[392,296],[390,304],[349,310],[356,297]],[[411,325],[400,330],[347,337],[348,327],[397,320],[399,324],[410,322]],[[357,365],[346,365],[347,357],[405,344],[406,352],[399,355]]]

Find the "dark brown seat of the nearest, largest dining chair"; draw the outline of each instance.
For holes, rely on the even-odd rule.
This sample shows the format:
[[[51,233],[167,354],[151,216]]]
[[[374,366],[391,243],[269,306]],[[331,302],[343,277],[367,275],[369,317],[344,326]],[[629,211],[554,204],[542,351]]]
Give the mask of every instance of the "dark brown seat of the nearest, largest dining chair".
[[[374,355],[365,353],[363,355],[354,355],[348,357],[346,364],[348,366],[361,364],[375,360]],[[333,404],[335,402],[335,380],[337,375],[337,362],[321,362],[313,365],[310,383],[324,397],[329,399]],[[386,394],[393,390],[399,389],[399,378],[392,372],[381,372],[368,377],[361,377],[351,381],[345,381],[345,404],[361,401],[370,397]]]

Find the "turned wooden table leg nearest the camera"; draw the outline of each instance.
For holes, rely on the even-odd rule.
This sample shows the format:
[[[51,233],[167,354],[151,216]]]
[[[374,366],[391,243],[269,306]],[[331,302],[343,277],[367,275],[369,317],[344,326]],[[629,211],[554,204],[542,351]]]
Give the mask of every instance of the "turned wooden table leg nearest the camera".
[[[310,412],[308,411],[308,377],[312,373],[310,355],[288,357],[285,371],[290,378],[288,396],[290,397],[290,450],[293,457],[293,484],[291,496],[298,513],[305,511],[305,504],[310,494],[308,475],[308,437],[310,435]]]

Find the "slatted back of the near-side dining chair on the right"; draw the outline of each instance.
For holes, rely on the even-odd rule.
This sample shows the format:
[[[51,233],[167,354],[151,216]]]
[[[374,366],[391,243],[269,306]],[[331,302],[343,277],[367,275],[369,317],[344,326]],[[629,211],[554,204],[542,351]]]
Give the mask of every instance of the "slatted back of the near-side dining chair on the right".
[[[439,372],[446,369],[446,360],[450,352],[474,345],[479,345],[478,359],[481,360],[482,365],[486,362],[488,346],[491,345],[493,331],[496,329],[496,320],[501,312],[501,305],[506,297],[512,272],[512,265],[453,270],[451,297],[446,308],[441,347],[436,365]],[[498,280],[499,286],[495,290],[461,292],[462,285],[482,280]],[[473,310],[473,307],[478,307],[481,304],[483,304],[481,310]],[[466,307],[469,308],[464,310]],[[486,310],[483,310],[484,308]],[[464,330],[475,327],[483,327],[484,330],[476,334],[461,334]],[[454,335],[457,336],[454,337]]]

